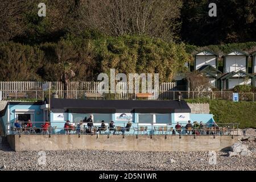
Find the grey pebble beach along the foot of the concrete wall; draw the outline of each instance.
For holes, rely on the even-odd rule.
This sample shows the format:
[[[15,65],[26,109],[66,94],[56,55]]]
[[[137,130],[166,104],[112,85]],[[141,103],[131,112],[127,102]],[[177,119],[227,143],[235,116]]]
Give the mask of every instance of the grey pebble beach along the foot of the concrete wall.
[[[255,141],[243,142],[249,156],[228,156],[216,152],[216,164],[209,151],[46,151],[46,163],[39,164],[38,151],[0,151],[1,170],[256,170]]]

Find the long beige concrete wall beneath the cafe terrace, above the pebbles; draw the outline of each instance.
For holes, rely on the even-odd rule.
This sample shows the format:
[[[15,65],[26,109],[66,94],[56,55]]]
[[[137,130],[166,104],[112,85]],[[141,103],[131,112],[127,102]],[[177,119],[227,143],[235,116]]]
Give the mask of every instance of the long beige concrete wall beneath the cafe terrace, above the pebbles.
[[[232,146],[238,137],[185,135],[9,135],[11,148],[15,151],[39,150],[113,150],[113,151],[219,151]]]

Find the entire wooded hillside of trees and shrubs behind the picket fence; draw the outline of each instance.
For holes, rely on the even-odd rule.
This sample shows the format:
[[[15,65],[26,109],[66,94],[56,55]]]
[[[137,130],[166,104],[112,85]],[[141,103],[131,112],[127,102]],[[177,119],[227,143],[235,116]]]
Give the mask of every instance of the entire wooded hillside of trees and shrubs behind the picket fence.
[[[96,81],[110,68],[172,81],[201,49],[256,51],[256,1],[213,0],[216,17],[207,0],[45,0],[46,17],[39,2],[1,1],[1,81]]]

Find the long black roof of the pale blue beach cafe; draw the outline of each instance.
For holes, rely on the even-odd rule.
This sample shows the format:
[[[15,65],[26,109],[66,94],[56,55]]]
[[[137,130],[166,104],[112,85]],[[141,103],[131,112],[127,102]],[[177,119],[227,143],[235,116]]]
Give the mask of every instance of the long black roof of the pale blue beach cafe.
[[[78,100],[51,98],[51,110],[69,113],[190,113],[184,101]]]

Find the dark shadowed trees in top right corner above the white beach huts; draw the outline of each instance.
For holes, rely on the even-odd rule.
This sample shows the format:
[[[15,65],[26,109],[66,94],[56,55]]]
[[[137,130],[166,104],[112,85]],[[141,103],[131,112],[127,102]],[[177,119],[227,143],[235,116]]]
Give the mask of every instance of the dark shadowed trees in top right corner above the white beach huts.
[[[216,17],[208,15],[210,2],[217,5]],[[255,7],[254,0],[184,0],[181,38],[197,46],[255,41]]]

